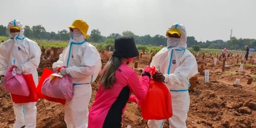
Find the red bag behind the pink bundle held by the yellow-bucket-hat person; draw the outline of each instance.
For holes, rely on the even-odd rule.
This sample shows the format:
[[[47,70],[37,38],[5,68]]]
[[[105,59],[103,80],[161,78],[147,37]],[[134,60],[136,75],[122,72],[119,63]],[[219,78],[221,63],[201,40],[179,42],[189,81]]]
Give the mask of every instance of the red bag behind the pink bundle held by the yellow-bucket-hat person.
[[[52,97],[48,97],[46,95],[44,95],[41,91],[42,91],[42,86],[43,86],[43,83],[45,81],[45,79],[51,75],[53,73],[52,70],[50,69],[47,69],[45,68],[42,75],[41,75],[41,78],[38,82],[38,86],[37,86],[37,96],[38,98],[43,98],[43,99],[46,99],[47,101],[53,101],[53,102],[57,102],[57,103],[61,103],[61,104],[65,104],[66,100],[64,99],[58,99],[58,98],[52,98]]]

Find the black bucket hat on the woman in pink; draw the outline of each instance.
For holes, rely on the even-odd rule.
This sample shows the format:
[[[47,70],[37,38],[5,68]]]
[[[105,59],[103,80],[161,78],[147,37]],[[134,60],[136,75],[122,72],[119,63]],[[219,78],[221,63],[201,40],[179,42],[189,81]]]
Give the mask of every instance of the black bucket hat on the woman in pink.
[[[120,36],[115,38],[115,47],[112,56],[131,58],[138,56],[138,50],[131,36]]]

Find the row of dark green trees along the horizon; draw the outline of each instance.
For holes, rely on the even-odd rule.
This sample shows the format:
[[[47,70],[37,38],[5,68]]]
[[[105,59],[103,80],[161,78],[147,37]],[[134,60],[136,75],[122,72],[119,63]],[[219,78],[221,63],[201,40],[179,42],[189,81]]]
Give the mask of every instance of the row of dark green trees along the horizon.
[[[32,39],[44,39],[44,40],[69,40],[69,31],[63,29],[55,33],[54,31],[47,32],[45,27],[41,25],[37,26],[25,26],[24,35]],[[150,35],[137,36],[131,31],[123,31],[122,35],[132,36],[135,39],[135,42],[139,45],[153,45],[153,46],[166,46],[166,37],[162,35],[155,35],[151,37]],[[0,36],[8,36],[7,27],[0,25]],[[105,37],[101,35],[99,29],[91,30],[90,38],[87,40],[89,42],[103,43],[107,39],[119,37],[121,34],[112,33],[109,36]],[[244,50],[245,46],[249,48],[256,48],[256,39],[245,39],[245,38],[236,38],[231,37],[228,41],[223,40],[214,40],[206,42],[198,42],[195,37],[187,37],[188,47],[200,47],[200,48],[213,48],[213,49],[223,49],[226,47],[230,50]]]

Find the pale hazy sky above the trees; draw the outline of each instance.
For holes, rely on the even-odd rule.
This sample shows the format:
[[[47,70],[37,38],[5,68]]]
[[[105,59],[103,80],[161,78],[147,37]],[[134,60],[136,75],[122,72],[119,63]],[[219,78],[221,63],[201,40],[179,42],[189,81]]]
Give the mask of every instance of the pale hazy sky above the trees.
[[[182,23],[197,41],[256,38],[256,0],[0,0],[0,25],[19,19],[46,31],[68,28],[83,19],[101,35],[165,36],[168,27]]]

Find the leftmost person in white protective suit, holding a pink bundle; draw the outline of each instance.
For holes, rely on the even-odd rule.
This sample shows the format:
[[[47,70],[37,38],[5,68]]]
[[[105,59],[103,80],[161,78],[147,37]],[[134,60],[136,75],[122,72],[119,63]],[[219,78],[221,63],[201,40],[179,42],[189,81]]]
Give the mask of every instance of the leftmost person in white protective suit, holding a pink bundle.
[[[41,50],[38,44],[24,37],[24,28],[19,20],[12,20],[7,28],[9,40],[0,45],[1,83],[8,68],[16,65],[16,73],[32,74],[38,84],[37,67],[40,63]],[[16,121],[13,128],[36,128],[37,102],[14,103],[13,110]]]

